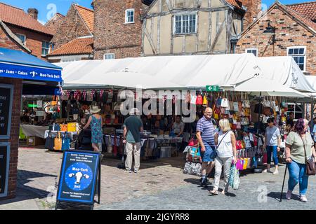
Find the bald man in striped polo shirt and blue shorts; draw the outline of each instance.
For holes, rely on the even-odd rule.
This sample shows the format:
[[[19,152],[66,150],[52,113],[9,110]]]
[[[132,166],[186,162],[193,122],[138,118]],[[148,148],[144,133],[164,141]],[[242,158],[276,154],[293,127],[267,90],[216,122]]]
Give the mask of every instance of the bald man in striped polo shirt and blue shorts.
[[[204,116],[197,122],[197,140],[202,154],[202,179],[201,186],[206,186],[206,178],[214,167],[216,148],[214,141],[214,125],[211,121],[213,111],[206,108]]]

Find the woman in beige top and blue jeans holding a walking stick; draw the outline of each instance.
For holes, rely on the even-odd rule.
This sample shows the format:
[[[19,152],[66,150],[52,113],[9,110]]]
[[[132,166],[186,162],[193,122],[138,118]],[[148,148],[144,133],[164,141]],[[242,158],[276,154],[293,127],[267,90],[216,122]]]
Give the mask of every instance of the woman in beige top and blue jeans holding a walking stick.
[[[290,200],[292,191],[299,183],[301,202],[307,202],[306,192],[308,189],[308,175],[306,174],[305,158],[316,158],[314,141],[307,132],[308,128],[304,119],[298,119],[294,131],[290,132],[285,141],[285,155],[289,168],[289,182],[286,198]]]

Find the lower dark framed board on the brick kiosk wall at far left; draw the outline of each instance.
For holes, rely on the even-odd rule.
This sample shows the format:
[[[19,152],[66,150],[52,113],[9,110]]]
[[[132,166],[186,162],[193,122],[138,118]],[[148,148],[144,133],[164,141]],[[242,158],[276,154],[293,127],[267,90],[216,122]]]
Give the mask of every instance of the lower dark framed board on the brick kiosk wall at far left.
[[[8,172],[10,162],[10,144],[0,143],[0,197],[8,196]]]

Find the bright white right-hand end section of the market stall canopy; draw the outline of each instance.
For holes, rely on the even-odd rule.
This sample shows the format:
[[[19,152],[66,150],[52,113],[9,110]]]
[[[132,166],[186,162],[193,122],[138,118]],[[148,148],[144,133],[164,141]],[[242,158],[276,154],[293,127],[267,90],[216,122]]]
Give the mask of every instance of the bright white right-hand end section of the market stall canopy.
[[[301,92],[315,92],[316,85],[311,85],[293,57],[258,57],[264,78],[273,80]]]

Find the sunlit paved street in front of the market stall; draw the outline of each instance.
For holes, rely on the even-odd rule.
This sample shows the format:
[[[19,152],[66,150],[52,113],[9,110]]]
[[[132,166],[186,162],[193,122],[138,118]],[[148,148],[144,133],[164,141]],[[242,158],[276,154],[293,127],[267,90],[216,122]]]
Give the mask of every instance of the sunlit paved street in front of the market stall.
[[[20,148],[18,197],[0,202],[0,209],[53,209],[50,193],[58,183],[61,161],[62,153]],[[181,157],[142,162],[139,174],[126,174],[117,168],[119,160],[105,158],[101,204],[95,209],[200,209],[200,204],[207,209],[315,209],[315,176],[310,178],[310,202],[305,204],[297,200],[298,188],[294,200],[277,200],[285,166],[278,176],[242,173],[239,190],[230,190],[230,196],[210,196],[211,186],[201,188],[197,176],[182,173],[184,162]]]

